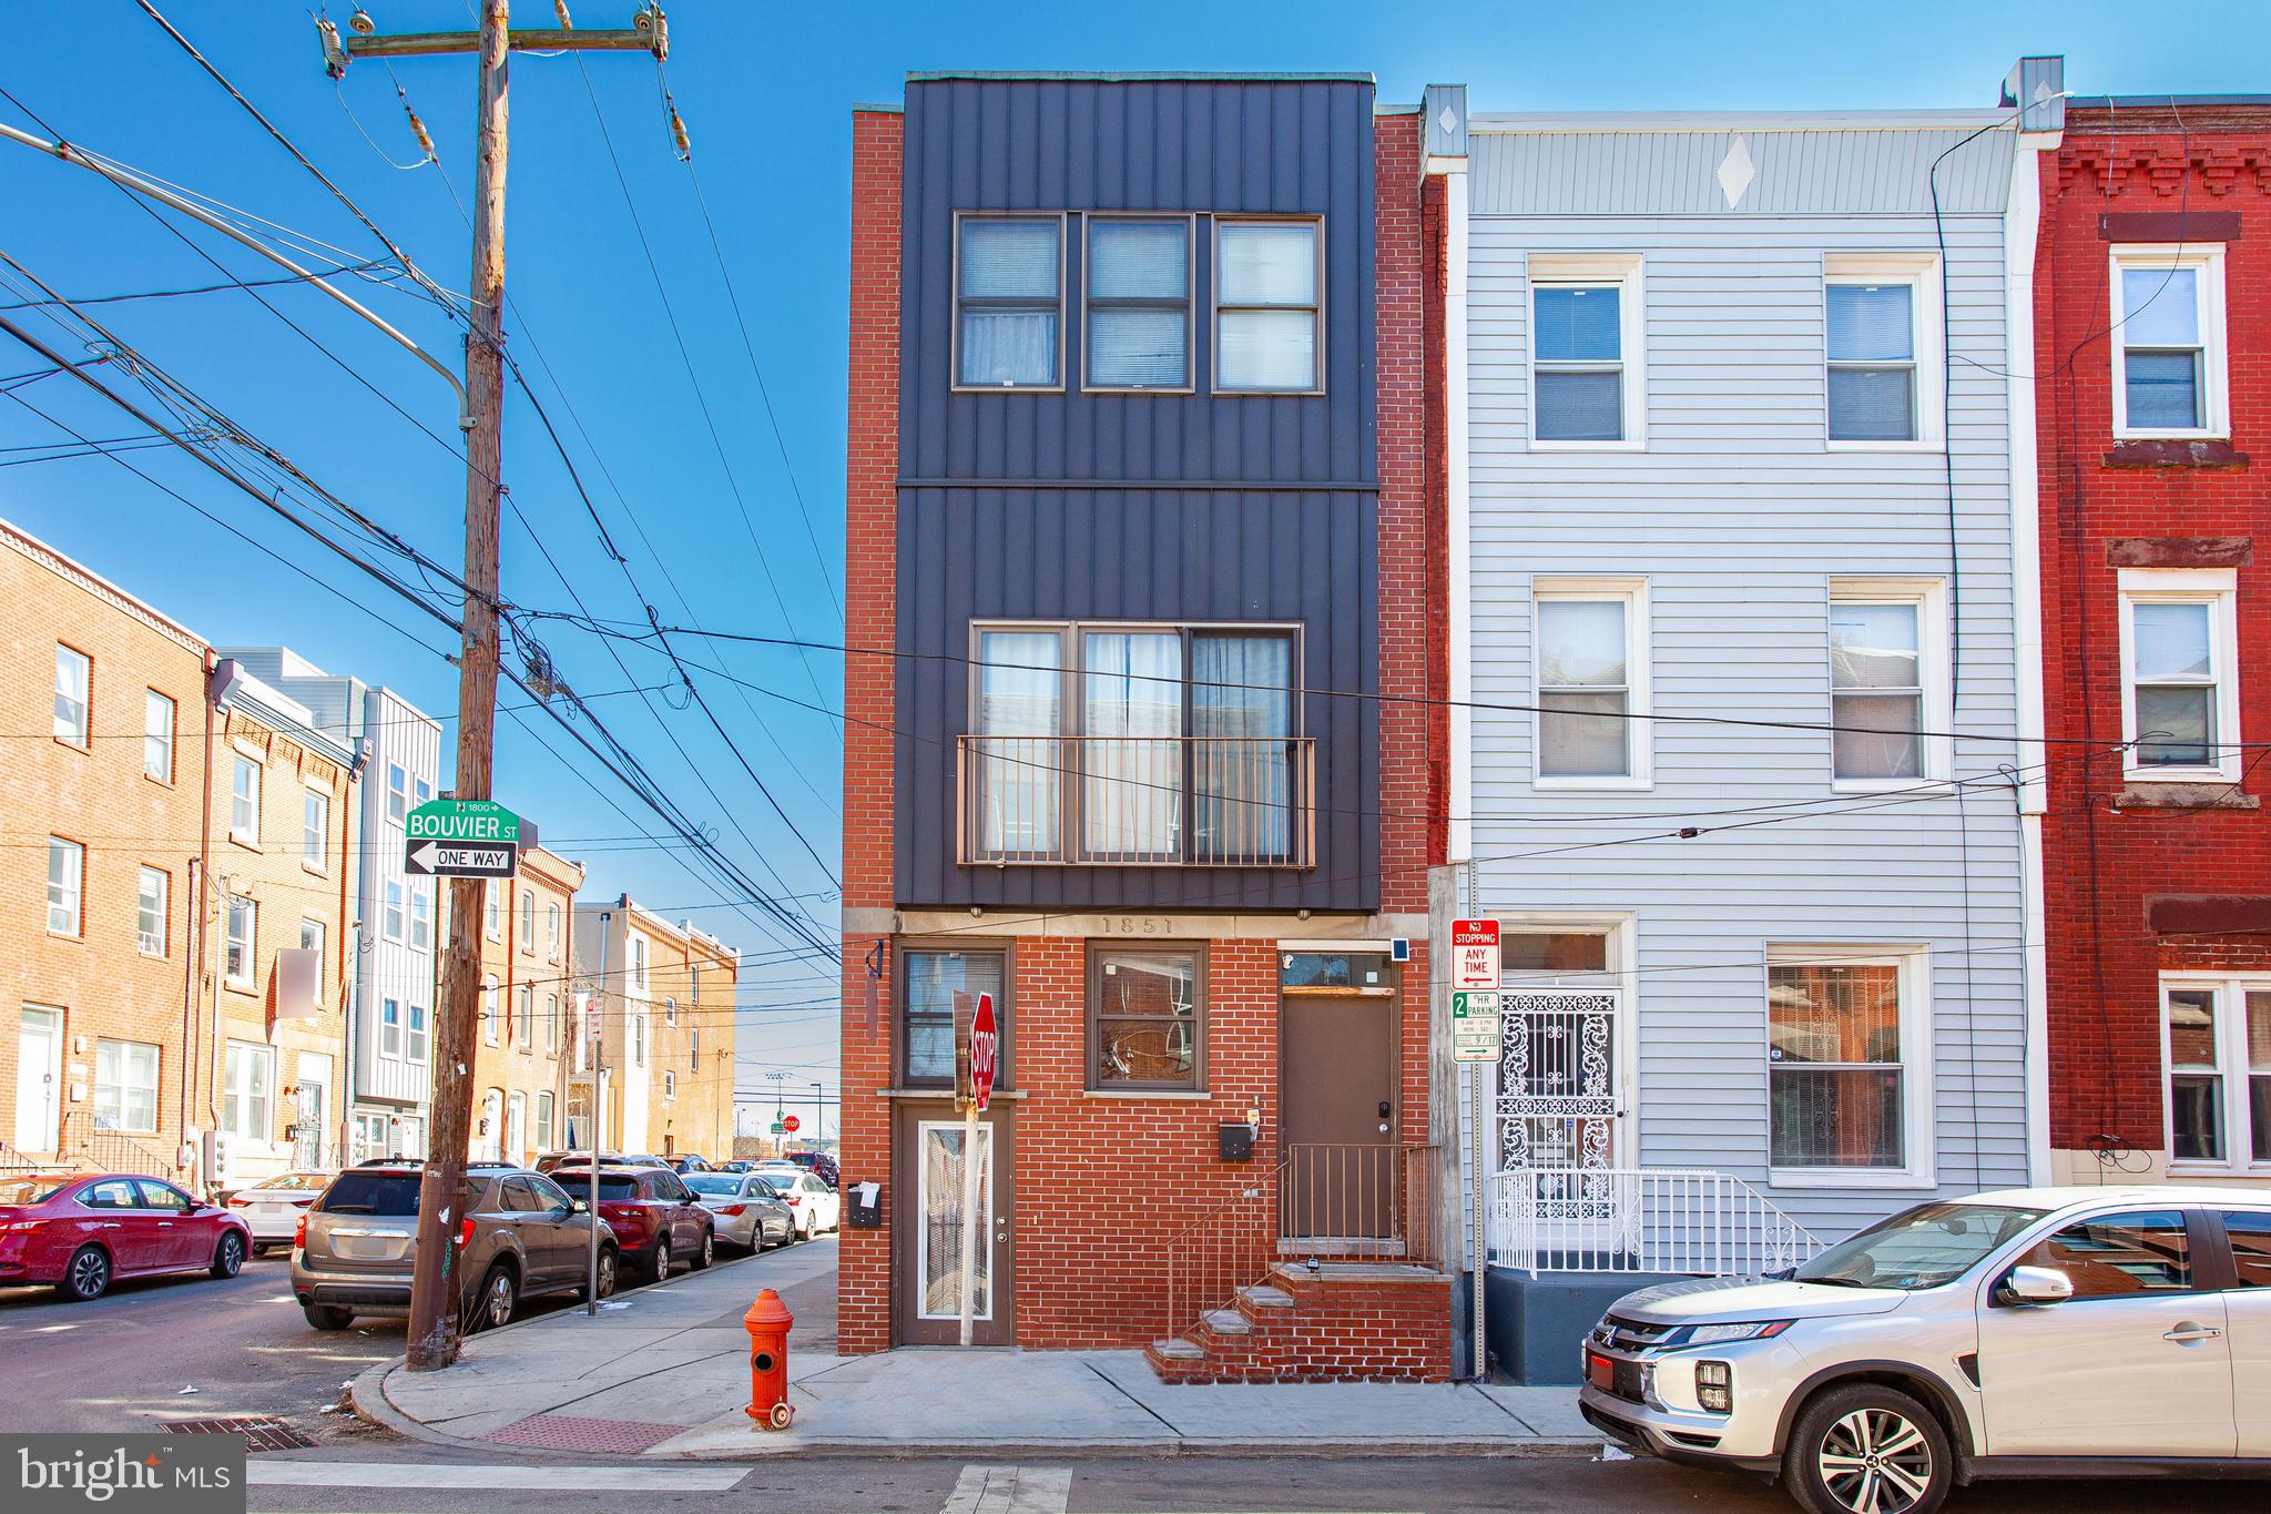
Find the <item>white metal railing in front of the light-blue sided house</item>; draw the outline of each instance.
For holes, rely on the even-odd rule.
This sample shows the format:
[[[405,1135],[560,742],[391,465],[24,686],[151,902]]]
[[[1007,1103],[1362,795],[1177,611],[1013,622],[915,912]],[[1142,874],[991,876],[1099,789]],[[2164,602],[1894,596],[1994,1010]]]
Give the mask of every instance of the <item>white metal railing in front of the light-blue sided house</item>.
[[[1733,1278],[1824,1242],[1767,1194],[1703,1167],[1517,1167],[1490,1178],[1490,1260],[1540,1271]]]

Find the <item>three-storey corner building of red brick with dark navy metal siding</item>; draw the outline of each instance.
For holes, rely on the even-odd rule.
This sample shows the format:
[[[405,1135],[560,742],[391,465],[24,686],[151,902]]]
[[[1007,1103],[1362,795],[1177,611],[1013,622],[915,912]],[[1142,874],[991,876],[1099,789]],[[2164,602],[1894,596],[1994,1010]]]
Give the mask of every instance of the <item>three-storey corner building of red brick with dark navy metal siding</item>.
[[[1449,1371],[1438,193],[1363,75],[854,113],[843,1351],[958,1339],[990,992],[979,1344]]]

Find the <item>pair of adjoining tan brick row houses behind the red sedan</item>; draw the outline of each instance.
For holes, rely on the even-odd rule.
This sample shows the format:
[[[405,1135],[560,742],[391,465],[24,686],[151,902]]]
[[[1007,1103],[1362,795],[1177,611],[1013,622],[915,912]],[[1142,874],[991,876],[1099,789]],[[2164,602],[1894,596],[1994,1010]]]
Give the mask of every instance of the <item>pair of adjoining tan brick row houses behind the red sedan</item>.
[[[52,547],[14,527],[0,545],[9,651],[41,670],[0,695],[25,867],[0,919],[0,1155],[207,1185],[336,1160],[347,747]]]

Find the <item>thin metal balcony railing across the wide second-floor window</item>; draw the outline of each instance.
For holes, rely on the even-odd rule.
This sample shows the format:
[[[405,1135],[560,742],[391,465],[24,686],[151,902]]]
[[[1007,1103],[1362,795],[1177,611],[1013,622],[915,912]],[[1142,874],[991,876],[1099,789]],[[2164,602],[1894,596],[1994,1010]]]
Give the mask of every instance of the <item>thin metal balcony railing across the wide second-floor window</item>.
[[[963,735],[963,865],[1315,867],[1308,735]]]

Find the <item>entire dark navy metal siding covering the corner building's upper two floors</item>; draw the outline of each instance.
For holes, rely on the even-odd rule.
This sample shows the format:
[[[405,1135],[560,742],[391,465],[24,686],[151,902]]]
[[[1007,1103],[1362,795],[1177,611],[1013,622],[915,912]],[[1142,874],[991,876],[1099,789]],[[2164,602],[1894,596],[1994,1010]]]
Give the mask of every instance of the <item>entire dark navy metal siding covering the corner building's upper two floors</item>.
[[[908,86],[895,790],[902,903],[1376,908],[1372,152],[1372,89],[1358,82]],[[1199,213],[1199,393],[1081,395],[1079,302],[1067,300],[1067,393],[954,395],[954,213],[983,209]],[[1229,211],[1324,216],[1324,395],[1206,393],[1213,238],[1204,216]],[[1072,222],[1067,293],[1081,286],[1079,261]],[[933,486],[942,479],[1002,488]],[[1017,488],[1154,479],[1199,488]],[[1317,865],[958,867],[954,738],[970,729],[972,620],[1299,622],[1301,679],[1313,690],[1304,731],[1317,738]]]

